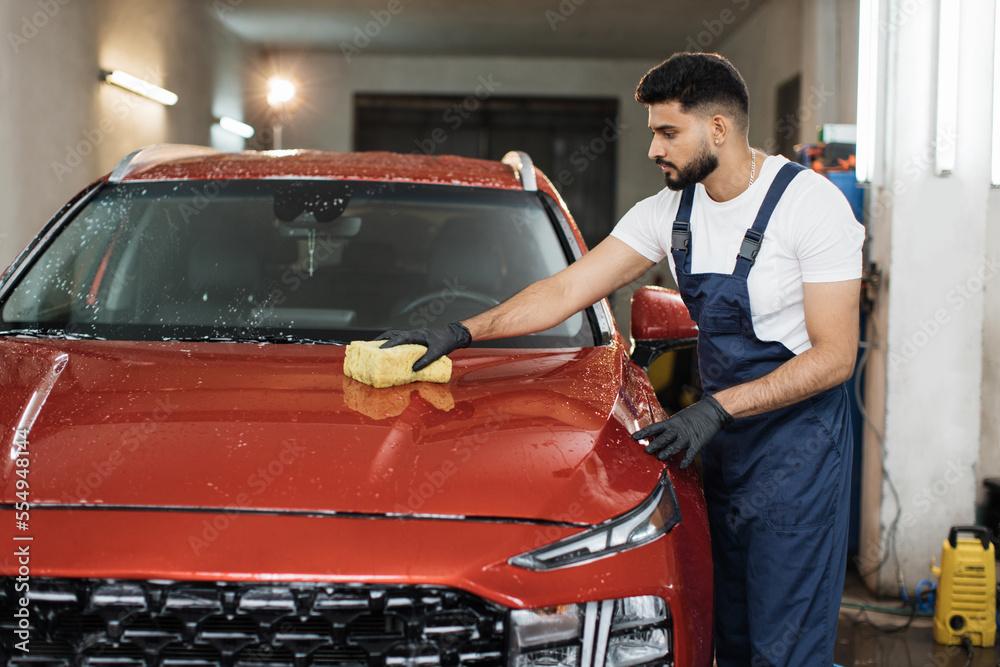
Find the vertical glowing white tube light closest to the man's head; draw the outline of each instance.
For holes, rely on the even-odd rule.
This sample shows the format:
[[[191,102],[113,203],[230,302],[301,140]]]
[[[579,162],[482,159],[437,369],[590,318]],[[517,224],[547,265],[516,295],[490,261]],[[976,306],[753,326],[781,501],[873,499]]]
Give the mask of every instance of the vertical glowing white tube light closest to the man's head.
[[[861,0],[858,13],[858,141],[854,171],[859,183],[870,183],[875,172],[879,29],[879,0]]]

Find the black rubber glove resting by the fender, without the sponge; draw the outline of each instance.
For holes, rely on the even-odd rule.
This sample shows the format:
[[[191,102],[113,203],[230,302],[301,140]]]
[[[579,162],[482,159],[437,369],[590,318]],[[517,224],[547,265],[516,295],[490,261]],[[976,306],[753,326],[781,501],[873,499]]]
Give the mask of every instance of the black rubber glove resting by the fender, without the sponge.
[[[700,401],[678,411],[673,417],[639,429],[632,437],[636,440],[650,438],[646,453],[661,461],[687,449],[681,462],[681,467],[687,468],[698,450],[732,421],[733,416],[713,396],[705,394]]]

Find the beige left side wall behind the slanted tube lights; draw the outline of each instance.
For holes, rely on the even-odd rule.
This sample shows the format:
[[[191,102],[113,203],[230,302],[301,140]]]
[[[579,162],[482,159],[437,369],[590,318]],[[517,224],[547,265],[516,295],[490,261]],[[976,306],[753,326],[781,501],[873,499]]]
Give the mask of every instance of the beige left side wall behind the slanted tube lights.
[[[225,3],[218,7],[225,10]],[[0,267],[70,196],[158,142],[242,148],[213,111],[242,115],[240,42],[198,0],[0,3]],[[98,80],[123,69],[180,96],[155,102]],[[13,92],[13,94],[11,94]]]

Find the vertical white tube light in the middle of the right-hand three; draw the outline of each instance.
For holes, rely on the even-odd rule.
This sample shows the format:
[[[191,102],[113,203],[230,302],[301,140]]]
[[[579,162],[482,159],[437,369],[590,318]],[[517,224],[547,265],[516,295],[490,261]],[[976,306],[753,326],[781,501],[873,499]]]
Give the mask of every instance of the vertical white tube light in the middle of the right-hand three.
[[[938,0],[937,111],[934,130],[934,172],[955,170],[958,140],[958,17],[959,0]]]

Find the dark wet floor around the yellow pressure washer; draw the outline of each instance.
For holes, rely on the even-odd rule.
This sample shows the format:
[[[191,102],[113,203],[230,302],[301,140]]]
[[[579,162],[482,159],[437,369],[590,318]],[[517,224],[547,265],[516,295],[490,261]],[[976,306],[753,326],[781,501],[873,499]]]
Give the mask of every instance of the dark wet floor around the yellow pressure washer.
[[[896,607],[898,601],[879,600],[868,593],[856,573],[848,573],[844,600]],[[931,619],[917,617],[905,630],[886,632],[905,624],[903,616],[841,609],[837,633],[838,665],[886,667],[997,667],[1000,648],[976,648],[969,656],[961,646],[939,646],[931,637]],[[876,629],[877,624],[882,630]]]

